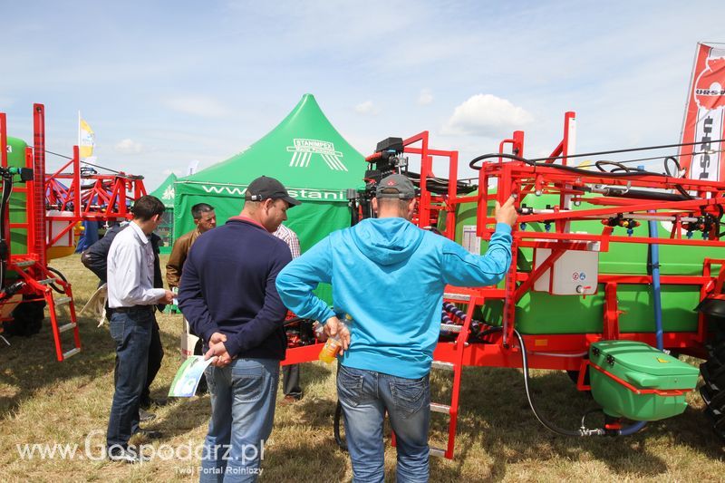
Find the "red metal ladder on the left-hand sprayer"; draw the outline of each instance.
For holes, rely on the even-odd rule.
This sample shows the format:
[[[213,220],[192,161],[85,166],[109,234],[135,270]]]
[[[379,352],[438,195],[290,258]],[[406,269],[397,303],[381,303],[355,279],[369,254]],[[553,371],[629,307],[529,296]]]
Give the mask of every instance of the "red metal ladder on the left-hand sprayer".
[[[40,265],[33,258],[17,259],[12,262],[14,271],[23,278],[23,281],[30,285],[35,292],[43,294],[43,300],[47,304],[48,314],[51,319],[51,328],[53,331],[53,342],[55,343],[55,355],[59,362],[63,362],[69,357],[81,352],[81,333],[78,331],[78,319],[75,314],[75,302],[73,300],[73,290],[71,284],[65,282],[62,278],[53,275],[47,268]],[[64,294],[55,297],[55,291],[50,285],[60,285],[63,287]],[[40,299],[38,299],[40,300]],[[70,321],[60,324],[58,320],[57,308],[68,305],[70,313]],[[61,334],[73,331],[73,348],[63,352],[63,340]]]

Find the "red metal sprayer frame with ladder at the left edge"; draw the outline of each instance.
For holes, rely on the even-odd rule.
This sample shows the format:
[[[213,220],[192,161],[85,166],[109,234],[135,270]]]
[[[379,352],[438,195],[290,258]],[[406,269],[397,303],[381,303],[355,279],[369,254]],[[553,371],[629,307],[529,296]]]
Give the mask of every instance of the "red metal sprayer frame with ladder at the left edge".
[[[5,113],[0,113],[0,150],[2,166],[7,167]],[[117,173],[114,175],[84,175],[77,146],[73,158],[53,174],[45,173],[45,110],[43,104],[33,106],[33,148],[25,150],[25,168],[33,170],[33,179],[13,186],[14,192],[26,195],[25,221],[9,222],[5,216],[5,240],[12,236],[11,229],[25,230],[26,253],[10,253],[7,269],[18,275],[24,285],[17,294],[24,295],[22,303],[45,301],[48,306],[58,361],[63,361],[81,348],[76,324],[71,285],[48,270],[48,248],[81,221],[115,221],[131,219],[129,204],[146,194],[142,177]],[[90,181],[90,182],[89,182]],[[49,210],[57,214],[48,215]],[[73,235],[71,235],[73,237]],[[59,286],[64,297],[53,297],[50,285]],[[0,299],[0,305],[16,304],[11,298]],[[56,320],[55,307],[69,304],[71,322]],[[6,318],[5,320],[9,320]],[[60,333],[73,330],[74,349],[63,352]]]

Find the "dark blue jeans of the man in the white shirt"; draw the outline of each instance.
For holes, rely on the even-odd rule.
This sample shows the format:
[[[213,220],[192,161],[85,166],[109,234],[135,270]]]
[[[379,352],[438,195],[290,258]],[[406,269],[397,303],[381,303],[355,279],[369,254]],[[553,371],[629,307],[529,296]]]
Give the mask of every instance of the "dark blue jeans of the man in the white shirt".
[[[118,362],[106,433],[106,445],[111,450],[127,448],[131,435],[139,430],[139,403],[146,384],[153,324],[153,310],[144,305],[111,314],[109,326]]]

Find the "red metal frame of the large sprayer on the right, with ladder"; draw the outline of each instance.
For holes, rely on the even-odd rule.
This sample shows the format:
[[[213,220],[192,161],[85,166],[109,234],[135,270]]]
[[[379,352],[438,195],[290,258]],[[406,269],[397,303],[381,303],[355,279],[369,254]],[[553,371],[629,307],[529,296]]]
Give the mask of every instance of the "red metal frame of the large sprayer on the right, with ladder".
[[[512,137],[501,141],[498,153],[486,157],[486,162],[478,163],[478,194],[459,196],[459,153],[454,150],[435,150],[430,148],[429,132],[423,131],[403,141],[404,152],[420,156],[420,204],[413,222],[419,227],[438,226],[440,213],[445,213],[445,225],[440,227],[441,234],[450,239],[455,237],[456,208],[461,203],[477,203],[476,234],[488,240],[495,229],[492,217],[493,201],[503,204],[509,196],[516,195],[519,208],[517,227],[512,232],[512,263],[507,272],[503,288],[488,286],[481,288],[446,287],[444,301],[465,305],[465,317],[455,321],[458,333],[453,340],[450,334],[441,338],[433,354],[439,366],[446,367],[453,374],[453,391],[450,406],[446,408],[450,417],[449,441],[446,449],[439,454],[453,457],[461,366],[495,366],[520,368],[522,358],[514,331],[517,327],[516,304],[522,296],[533,290],[536,280],[554,266],[556,259],[567,250],[585,250],[596,243],[598,251],[605,252],[612,243],[659,244],[672,246],[725,247],[720,241],[717,227],[725,204],[725,183],[711,180],[682,179],[670,176],[656,176],[637,172],[626,177],[615,178],[595,170],[573,169],[569,161],[575,151],[575,113],[566,112],[564,135],[552,153],[542,162],[532,164],[524,157],[524,133],[516,131]],[[510,150],[507,150],[510,148]],[[498,156],[498,155],[501,156]],[[446,159],[448,164],[448,190],[446,194],[431,193],[428,180],[436,178],[433,174],[433,159]],[[558,167],[556,167],[557,165]],[[631,176],[630,176],[631,174]],[[440,182],[440,179],[438,179]],[[493,193],[489,187],[496,187]],[[606,187],[613,193],[622,194],[638,190],[640,198],[626,198],[603,194],[588,197],[585,187]],[[690,193],[688,197],[666,196],[663,193]],[[656,191],[655,194],[648,195]],[[594,191],[598,192],[598,191]],[[634,191],[632,191],[634,193]],[[520,209],[527,197],[540,195],[558,197],[558,204],[546,209]],[[601,193],[600,193],[601,194]],[[648,198],[650,197],[650,198]],[[664,198],[664,199],[662,199]],[[490,202],[490,204],[489,204]],[[582,209],[571,209],[572,205],[583,205]],[[655,211],[656,213],[652,213]],[[624,220],[624,218],[628,218]],[[693,219],[710,217],[718,224],[703,227],[702,239],[682,237],[682,228]],[[649,237],[644,235],[646,227],[630,230],[623,234],[624,227],[617,225],[621,219],[627,223],[632,220],[672,221],[669,237]],[[578,220],[601,220],[599,233],[573,233],[570,224]],[[614,222],[613,222],[614,220]],[[546,223],[554,229],[546,232],[522,229],[522,224]],[[699,228],[696,228],[699,229]],[[519,247],[546,248],[550,255],[537,263],[536,268],[528,271],[517,267]],[[717,267],[717,268],[716,268]],[[553,271],[549,271],[553,272]],[[705,257],[700,275],[661,275],[662,285],[694,285],[699,288],[700,299],[720,294],[725,282],[725,260]],[[623,275],[599,273],[597,280],[587,281],[585,289],[604,285],[603,330],[597,333],[552,333],[524,334],[522,338],[527,346],[527,361],[530,368],[581,371],[578,389],[586,390],[584,371],[586,356],[592,343],[601,340],[630,340],[656,345],[655,333],[622,333],[619,328],[619,315],[622,313],[617,301],[617,287],[620,285],[652,284],[652,275]],[[504,301],[501,330],[489,331],[485,335],[486,343],[469,342],[469,329],[476,308],[488,301]],[[493,328],[486,325],[484,329]],[[705,343],[708,340],[707,324],[703,314],[698,314],[697,329],[693,332],[665,332],[662,334],[664,348],[677,353],[687,353],[705,357]],[[315,360],[320,346],[315,344],[294,348],[287,352],[287,363]],[[435,363],[434,363],[435,366]],[[433,409],[431,411],[437,411]],[[431,454],[433,449],[431,449]]]

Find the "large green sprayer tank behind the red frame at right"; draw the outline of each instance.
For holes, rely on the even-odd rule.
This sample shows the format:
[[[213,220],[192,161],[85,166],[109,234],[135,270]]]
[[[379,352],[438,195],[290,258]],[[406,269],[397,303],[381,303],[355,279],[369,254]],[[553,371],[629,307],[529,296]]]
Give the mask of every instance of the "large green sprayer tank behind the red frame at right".
[[[489,191],[490,193],[490,191]],[[524,203],[528,207],[546,208],[546,205],[558,204],[559,197],[544,195],[527,196]],[[493,201],[488,203],[489,213],[493,212]],[[589,209],[585,206],[575,209]],[[440,227],[444,220],[440,220]],[[476,225],[476,204],[464,203],[456,210],[456,241],[462,244],[463,227]],[[669,230],[658,222],[658,236],[669,238]],[[572,223],[572,231],[584,231],[591,234],[602,233],[601,222],[577,221]],[[529,232],[545,232],[543,224],[527,225]],[[648,233],[646,223],[635,228],[635,233]],[[624,228],[616,228],[614,235],[626,237]],[[699,237],[699,234],[696,234]],[[481,253],[485,253],[488,243],[481,243]],[[660,245],[660,264],[662,275],[701,275],[703,258],[725,258],[723,248],[705,248],[702,246]],[[519,270],[531,271],[534,263],[534,250],[521,248],[518,252]],[[713,266],[718,270],[719,266]],[[608,252],[599,256],[599,273],[646,275],[647,245],[637,243],[612,243]],[[503,284],[499,285],[503,288]],[[650,285],[617,285],[619,310],[619,330],[621,333],[653,333],[654,307],[652,287]],[[694,308],[700,303],[700,287],[697,285],[662,285],[662,328],[665,332],[694,332],[697,330],[698,314]],[[488,302],[481,316],[488,324],[501,324],[502,301]],[[545,292],[528,292],[517,303],[516,325],[520,333],[601,333],[604,318],[604,285],[598,292],[587,295],[550,295]]]

